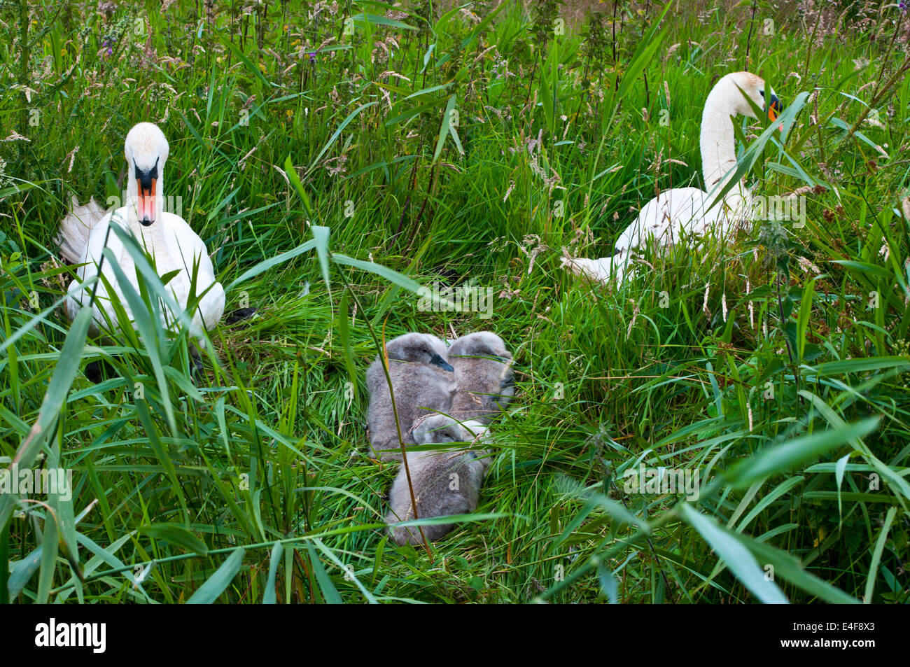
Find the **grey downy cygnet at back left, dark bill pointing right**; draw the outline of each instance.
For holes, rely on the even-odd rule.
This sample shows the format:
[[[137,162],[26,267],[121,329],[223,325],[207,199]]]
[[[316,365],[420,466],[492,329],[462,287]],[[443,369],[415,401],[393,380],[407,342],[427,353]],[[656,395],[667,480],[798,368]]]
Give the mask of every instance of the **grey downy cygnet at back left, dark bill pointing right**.
[[[409,333],[386,343],[389,378],[398,409],[401,437],[414,444],[414,422],[436,412],[448,412],[455,395],[455,373],[446,360],[446,345],[430,334]],[[399,432],[389,395],[389,383],[377,358],[367,369],[370,454],[379,460],[401,460]]]

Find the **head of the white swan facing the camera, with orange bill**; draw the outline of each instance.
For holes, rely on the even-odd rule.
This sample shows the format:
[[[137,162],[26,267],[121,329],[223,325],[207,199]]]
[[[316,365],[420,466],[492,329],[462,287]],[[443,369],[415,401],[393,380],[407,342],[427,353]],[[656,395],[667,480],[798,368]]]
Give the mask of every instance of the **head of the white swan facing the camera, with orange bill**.
[[[168,153],[167,139],[154,123],[138,123],[126,134],[123,147],[130,186],[136,186],[136,213],[144,227],[152,225],[158,215],[159,181],[164,174]],[[132,190],[132,187],[130,187]]]

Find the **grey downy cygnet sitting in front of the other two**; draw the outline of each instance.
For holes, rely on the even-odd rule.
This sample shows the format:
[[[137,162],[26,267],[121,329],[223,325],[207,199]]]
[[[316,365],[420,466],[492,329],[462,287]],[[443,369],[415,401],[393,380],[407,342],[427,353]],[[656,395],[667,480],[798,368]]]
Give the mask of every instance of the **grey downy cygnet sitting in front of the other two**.
[[[487,441],[487,429],[479,421],[460,424],[446,415],[433,415],[423,419],[414,429],[419,444],[444,442]],[[489,450],[427,450],[409,451],[410,481],[417,501],[417,517],[430,519],[455,514],[467,514],[477,509],[480,486],[490,467]],[[408,487],[408,476],[402,465],[389,491],[389,515],[386,522],[397,523],[414,519],[414,509]],[[429,541],[447,535],[454,523],[423,526]],[[397,544],[420,544],[417,526],[392,527],[392,540]]]

